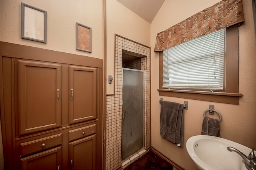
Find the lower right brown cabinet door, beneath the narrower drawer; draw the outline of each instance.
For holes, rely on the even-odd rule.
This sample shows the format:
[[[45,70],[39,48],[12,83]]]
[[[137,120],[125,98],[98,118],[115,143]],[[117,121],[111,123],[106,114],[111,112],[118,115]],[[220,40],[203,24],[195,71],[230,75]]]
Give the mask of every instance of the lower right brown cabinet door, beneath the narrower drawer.
[[[69,143],[70,169],[96,169],[96,134]]]

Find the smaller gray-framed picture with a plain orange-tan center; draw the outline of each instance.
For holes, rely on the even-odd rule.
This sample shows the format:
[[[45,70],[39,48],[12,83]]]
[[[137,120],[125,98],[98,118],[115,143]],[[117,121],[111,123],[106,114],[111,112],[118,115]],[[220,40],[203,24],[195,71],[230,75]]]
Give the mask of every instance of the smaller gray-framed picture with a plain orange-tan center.
[[[92,28],[76,22],[76,49],[92,52]]]

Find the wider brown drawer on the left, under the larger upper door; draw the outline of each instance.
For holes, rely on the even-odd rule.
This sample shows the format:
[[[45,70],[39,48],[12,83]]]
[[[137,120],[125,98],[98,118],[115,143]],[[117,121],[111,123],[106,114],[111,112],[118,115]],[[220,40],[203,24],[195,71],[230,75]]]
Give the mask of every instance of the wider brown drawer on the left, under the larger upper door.
[[[62,144],[62,134],[55,134],[45,138],[32,140],[20,144],[20,156],[25,156]]]

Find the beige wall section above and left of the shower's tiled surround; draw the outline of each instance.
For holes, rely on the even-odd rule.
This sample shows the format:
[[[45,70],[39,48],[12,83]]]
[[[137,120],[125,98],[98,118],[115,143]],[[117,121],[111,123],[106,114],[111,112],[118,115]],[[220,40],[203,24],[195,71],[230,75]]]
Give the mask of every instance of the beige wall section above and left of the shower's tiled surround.
[[[107,21],[107,71],[114,76],[114,38],[115,34],[132,41],[150,46],[150,23],[128,10],[116,0],[106,1]],[[108,81],[106,81],[108,82]],[[107,83],[107,95],[114,94],[114,83]]]

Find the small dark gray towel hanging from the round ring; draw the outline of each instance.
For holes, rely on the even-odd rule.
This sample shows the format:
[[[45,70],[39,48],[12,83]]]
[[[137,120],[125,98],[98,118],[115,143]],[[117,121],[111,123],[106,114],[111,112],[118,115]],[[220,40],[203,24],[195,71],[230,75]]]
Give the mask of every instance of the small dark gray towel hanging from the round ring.
[[[207,116],[204,117],[201,134],[220,137],[220,122],[219,122],[219,120],[212,119]]]

